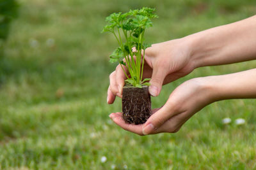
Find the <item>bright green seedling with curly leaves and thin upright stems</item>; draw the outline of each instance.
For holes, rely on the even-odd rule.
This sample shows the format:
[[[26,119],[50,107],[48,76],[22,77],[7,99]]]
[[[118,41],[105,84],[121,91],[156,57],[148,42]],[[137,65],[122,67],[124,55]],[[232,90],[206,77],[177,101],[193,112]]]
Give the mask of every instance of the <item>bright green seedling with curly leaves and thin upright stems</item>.
[[[127,13],[112,13],[106,17],[108,25],[102,31],[111,32],[115,36],[119,46],[111,53],[109,61],[120,64],[127,77],[125,83],[134,87],[150,85],[150,78],[142,80],[145,50],[151,46],[144,43],[144,35],[145,30],[152,27],[150,19],[157,18],[154,11],[155,9],[143,7]]]

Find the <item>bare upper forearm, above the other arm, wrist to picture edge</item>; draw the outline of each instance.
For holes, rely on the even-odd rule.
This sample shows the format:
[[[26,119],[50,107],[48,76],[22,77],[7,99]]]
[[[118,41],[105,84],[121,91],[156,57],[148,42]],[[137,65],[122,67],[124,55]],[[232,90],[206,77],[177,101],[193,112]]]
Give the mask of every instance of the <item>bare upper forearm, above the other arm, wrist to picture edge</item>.
[[[185,37],[195,67],[256,59],[256,15]]]

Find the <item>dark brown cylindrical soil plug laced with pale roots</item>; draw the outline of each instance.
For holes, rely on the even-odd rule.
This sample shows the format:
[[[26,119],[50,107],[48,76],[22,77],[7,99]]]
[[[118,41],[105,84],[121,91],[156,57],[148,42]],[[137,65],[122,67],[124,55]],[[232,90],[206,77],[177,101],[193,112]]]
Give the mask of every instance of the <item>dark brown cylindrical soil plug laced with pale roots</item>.
[[[151,99],[148,86],[142,88],[125,85],[122,97],[122,110],[124,121],[128,124],[144,124],[151,111]]]

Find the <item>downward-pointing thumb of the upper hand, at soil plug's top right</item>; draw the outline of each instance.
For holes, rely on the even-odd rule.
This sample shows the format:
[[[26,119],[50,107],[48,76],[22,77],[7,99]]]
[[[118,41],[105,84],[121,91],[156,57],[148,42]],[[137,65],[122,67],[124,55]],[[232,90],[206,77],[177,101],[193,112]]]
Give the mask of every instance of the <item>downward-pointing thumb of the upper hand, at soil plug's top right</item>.
[[[153,69],[152,77],[149,81],[150,87],[148,89],[151,96],[156,97],[160,94],[166,75],[167,73],[163,67],[156,67]]]

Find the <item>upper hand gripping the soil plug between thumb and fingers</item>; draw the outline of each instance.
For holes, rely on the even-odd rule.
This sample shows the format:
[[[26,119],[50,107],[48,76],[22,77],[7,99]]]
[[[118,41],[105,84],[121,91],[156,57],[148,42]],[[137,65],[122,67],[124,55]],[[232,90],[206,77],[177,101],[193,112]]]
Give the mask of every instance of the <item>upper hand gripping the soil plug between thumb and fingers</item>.
[[[157,43],[145,50],[143,78],[151,78],[149,92],[158,96],[162,85],[186,76],[195,65],[190,57],[189,41],[186,38],[173,39]],[[112,104],[115,97],[122,97],[122,88],[126,76],[118,65],[109,76],[108,103]]]

